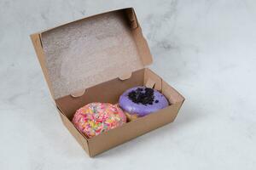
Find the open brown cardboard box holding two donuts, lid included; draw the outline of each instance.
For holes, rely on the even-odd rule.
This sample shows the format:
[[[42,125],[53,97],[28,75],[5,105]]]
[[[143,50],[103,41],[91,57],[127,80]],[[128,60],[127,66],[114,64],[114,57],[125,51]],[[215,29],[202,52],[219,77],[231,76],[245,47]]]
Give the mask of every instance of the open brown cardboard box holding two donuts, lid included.
[[[146,68],[152,56],[133,8],[76,20],[31,38],[61,120],[89,156],[173,122],[183,105],[183,96]],[[171,105],[91,139],[73,126],[80,107],[118,103],[126,89],[138,85],[159,90]]]

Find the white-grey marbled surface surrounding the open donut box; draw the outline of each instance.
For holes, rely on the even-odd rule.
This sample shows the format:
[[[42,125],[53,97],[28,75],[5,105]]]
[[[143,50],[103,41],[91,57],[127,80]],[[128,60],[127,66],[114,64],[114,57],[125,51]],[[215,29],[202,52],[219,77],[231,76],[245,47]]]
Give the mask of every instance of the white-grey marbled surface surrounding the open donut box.
[[[170,125],[89,158],[62,126],[29,35],[134,7],[150,67],[186,102]],[[253,0],[0,0],[0,168],[256,169]]]

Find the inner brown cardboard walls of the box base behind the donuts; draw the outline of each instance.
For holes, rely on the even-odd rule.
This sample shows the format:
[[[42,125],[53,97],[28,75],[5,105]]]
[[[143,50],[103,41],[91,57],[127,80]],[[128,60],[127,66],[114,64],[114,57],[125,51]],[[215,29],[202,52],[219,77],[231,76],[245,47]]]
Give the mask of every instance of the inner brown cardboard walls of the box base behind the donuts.
[[[119,101],[119,96],[123,94],[125,90],[135,86],[143,86],[148,80],[155,82],[154,88],[164,94],[171,105],[183,101],[183,96],[178,94],[177,91],[166,82],[162,81],[153,71],[141,69],[133,72],[129,79],[120,80],[119,78],[115,78],[108,82],[102,82],[94,87],[87,88],[84,95],[79,98],[73,98],[71,95],[67,95],[60,99],[55,99],[55,103],[61,112],[71,121],[75,111],[80,107],[90,102],[116,104]]]

